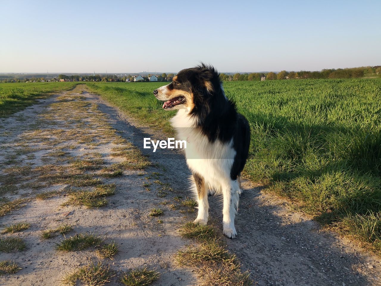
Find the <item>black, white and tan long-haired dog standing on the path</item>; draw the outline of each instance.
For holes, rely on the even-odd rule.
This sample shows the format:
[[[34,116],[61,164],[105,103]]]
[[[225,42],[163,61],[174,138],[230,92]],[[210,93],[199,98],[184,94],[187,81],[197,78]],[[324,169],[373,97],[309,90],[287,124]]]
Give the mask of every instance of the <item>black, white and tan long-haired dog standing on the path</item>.
[[[194,223],[207,224],[208,194],[222,194],[223,233],[235,238],[235,214],[242,189],[240,175],[250,145],[250,126],[224,92],[213,66],[183,69],[170,84],[154,90],[163,109],[178,109],[170,120],[178,137],[187,141],[186,161],[198,199]]]

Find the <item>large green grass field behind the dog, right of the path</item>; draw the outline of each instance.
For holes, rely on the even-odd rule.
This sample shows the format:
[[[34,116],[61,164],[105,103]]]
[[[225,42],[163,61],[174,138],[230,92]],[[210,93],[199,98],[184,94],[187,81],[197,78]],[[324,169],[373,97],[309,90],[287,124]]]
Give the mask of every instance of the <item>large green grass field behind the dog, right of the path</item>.
[[[88,87],[147,126],[173,130],[166,83]],[[381,79],[224,82],[252,128],[245,175],[381,252]]]

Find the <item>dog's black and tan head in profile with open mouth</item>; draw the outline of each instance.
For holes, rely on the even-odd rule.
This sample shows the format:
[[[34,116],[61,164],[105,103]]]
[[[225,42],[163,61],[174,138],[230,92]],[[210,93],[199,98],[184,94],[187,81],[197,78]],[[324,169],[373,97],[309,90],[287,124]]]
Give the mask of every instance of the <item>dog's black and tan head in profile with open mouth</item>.
[[[184,108],[192,111],[195,106],[209,102],[220,89],[218,72],[212,66],[201,64],[179,71],[170,84],[154,90],[154,95],[164,101],[165,110]]]

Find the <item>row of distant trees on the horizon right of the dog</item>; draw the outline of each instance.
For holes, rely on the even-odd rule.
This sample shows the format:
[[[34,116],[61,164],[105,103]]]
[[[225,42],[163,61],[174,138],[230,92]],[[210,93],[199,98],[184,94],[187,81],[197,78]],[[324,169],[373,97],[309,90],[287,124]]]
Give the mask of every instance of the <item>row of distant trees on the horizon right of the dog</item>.
[[[322,69],[321,71],[281,71],[251,74],[220,74],[224,81],[275,80],[275,79],[349,79],[356,77],[381,77],[381,66],[352,67],[347,69]]]

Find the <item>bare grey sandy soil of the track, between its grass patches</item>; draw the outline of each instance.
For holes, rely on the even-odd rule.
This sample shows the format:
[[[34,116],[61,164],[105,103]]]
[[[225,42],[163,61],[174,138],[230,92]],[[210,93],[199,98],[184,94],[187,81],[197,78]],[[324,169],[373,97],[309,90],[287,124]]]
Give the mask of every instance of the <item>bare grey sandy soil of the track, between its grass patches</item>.
[[[69,94],[70,92],[67,92]],[[72,92],[71,92],[72,93]],[[61,276],[76,267],[86,265],[88,261],[98,261],[93,250],[77,252],[57,252],[54,243],[63,237],[57,236],[49,240],[40,239],[45,228],[53,228],[61,223],[74,225],[74,232],[93,231],[106,235],[107,241],[115,241],[120,245],[114,261],[106,261],[121,273],[130,268],[149,266],[157,267],[161,274],[155,285],[196,285],[194,272],[180,269],[174,263],[174,254],[188,240],[181,239],[176,233],[179,223],[193,221],[196,214],[177,210],[168,204],[176,203],[174,196],[186,198],[190,196],[187,177],[190,175],[184,156],[177,150],[142,149],[144,137],[166,139],[157,131],[141,126],[139,122],[129,118],[117,108],[101,100],[99,96],[87,92],[75,93],[72,96],[85,96],[85,100],[98,104],[102,117],[118,134],[133,143],[150,161],[157,164],[149,167],[141,174],[138,170],[126,170],[117,178],[102,178],[104,183],[115,183],[115,195],[108,197],[109,203],[99,209],[86,209],[83,206],[61,206],[67,201],[66,196],[54,196],[46,200],[32,199],[26,206],[0,217],[1,224],[27,220],[32,223],[29,230],[3,236],[19,236],[27,242],[26,250],[16,253],[0,252],[0,260],[15,260],[22,270],[14,275],[0,277],[0,283],[6,285],[59,285]],[[51,121],[41,120],[42,114],[51,114],[52,106],[58,96],[42,100],[39,104],[27,108],[12,117],[0,122],[2,134],[0,160],[7,162],[18,149],[17,143],[23,134],[30,134],[38,129],[51,129]],[[59,106],[54,106],[58,108]],[[79,111],[73,110],[75,116]],[[91,115],[90,115],[91,117]],[[71,129],[68,122],[56,121],[56,127]],[[59,125],[59,126],[58,126]],[[96,126],[94,126],[96,129]],[[28,137],[30,138],[30,136]],[[59,146],[75,145],[75,149],[65,149],[67,156],[81,157],[88,152],[98,152],[107,164],[117,159],[110,157],[110,149],[114,146],[102,139],[99,145],[86,145],[77,141],[61,140],[57,145],[43,145],[41,141],[30,141],[32,151],[21,154],[13,160],[17,164],[43,165],[44,155]],[[24,142],[25,143],[25,142]],[[33,145],[32,145],[33,144]],[[38,146],[40,144],[40,146]],[[34,154],[33,156],[30,156]],[[29,158],[29,159],[28,159]],[[49,163],[49,162],[48,162]],[[8,167],[3,163],[2,168]],[[57,162],[54,164],[66,164]],[[152,174],[154,173],[154,175]],[[159,173],[159,175],[156,175]],[[146,179],[145,177],[150,177]],[[168,184],[173,191],[165,197],[158,196],[161,184]],[[146,190],[150,183],[150,191]],[[145,186],[143,186],[146,184]],[[17,191],[8,192],[6,196],[14,198],[31,198],[34,194],[64,189],[67,185],[44,186],[41,189],[30,188],[30,185],[18,185]],[[249,270],[251,278],[258,285],[381,285],[377,257],[360,251],[350,242],[338,238],[335,234],[323,231],[319,225],[299,212],[291,210],[284,201],[266,194],[262,186],[245,180],[244,193],[240,201],[239,213],[236,217],[237,239],[226,239],[229,250],[240,258],[242,270]],[[219,198],[210,197],[210,222],[222,234],[221,204]],[[162,203],[168,203],[163,205]],[[163,223],[149,216],[150,209],[160,207],[164,215]],[[70,212],[69,215],[65,216]],[[116,282],[110,285],[116,285]]]

